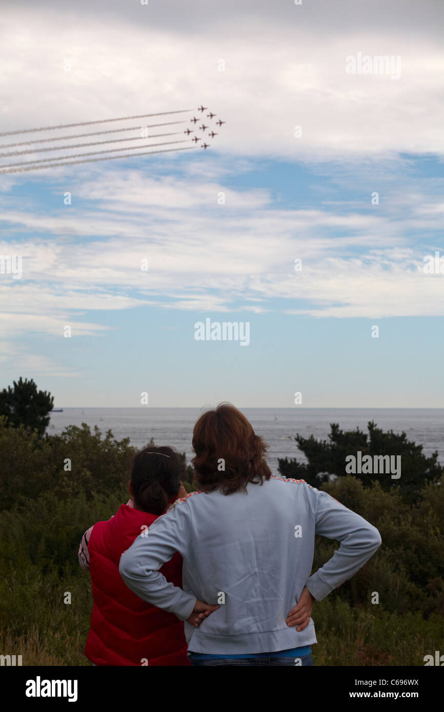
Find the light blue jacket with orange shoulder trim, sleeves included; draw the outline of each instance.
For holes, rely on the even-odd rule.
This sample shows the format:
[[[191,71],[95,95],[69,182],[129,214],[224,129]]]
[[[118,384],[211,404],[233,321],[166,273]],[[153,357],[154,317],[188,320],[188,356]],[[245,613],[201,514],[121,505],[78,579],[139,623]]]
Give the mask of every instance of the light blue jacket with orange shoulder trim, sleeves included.
[[[341,545],[310,576],[315,533]],[[299,633],[285,622],[304,586],[321,601],[379,545],[378,530],[326,492],[272,476],[262,486],[249,483],[247,493],[177,500],[123,553],[119,570],[140,598],[185,621],[190,651],[274,652],[316,643],[312,619]],[[158,571],[175,551],[183,557],[183,590]],[[198,628],[186,622],[196,599],[224,600]]]

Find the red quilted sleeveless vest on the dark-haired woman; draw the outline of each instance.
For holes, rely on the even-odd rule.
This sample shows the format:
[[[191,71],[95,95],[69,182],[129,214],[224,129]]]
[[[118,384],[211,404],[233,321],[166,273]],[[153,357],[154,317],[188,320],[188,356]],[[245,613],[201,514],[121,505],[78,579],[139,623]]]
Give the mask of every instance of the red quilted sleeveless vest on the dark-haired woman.
[[[94,606],[85,654],[96,665],[190,665],[183,622],[135,595],[119,574],[120,556],[158,518],[120,506],[94,525],[88,541]],[[175,553],[160,569],[182,587],[182,557]],[[145,662],[146,665],[146,662]]]

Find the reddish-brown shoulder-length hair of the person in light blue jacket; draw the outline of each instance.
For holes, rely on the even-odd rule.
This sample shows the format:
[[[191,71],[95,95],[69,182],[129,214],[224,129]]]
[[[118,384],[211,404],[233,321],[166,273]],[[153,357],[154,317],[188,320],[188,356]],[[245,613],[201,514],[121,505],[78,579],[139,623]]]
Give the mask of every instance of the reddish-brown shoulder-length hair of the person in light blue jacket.
[[[247,418],[231,403],[221,403],[200,416],[192,434],[195,478],[204,492],[247,491],[247,483],[261,484],[272,472],[265,461],[268,445],[254,434]],[[220,460],[224,461],[221,470]]]

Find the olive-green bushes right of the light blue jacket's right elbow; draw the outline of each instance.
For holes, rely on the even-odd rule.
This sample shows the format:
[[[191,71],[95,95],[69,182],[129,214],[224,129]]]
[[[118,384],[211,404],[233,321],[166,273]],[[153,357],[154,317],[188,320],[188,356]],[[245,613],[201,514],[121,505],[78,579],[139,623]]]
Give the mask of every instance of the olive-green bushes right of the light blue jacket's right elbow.
[[[443,488],[425,485],[418,505],[405,503],[399,491],[384,492],[378,481],[365,488],[353,476],[324,483],[322,489],[376,526],[382,539],[376,554],[340,587],[341,597],[360,607],[376,591],[386,611],[420,611],[425,617],[443,614]],[[316,535],[314,570],[329,560],[335,548]]]

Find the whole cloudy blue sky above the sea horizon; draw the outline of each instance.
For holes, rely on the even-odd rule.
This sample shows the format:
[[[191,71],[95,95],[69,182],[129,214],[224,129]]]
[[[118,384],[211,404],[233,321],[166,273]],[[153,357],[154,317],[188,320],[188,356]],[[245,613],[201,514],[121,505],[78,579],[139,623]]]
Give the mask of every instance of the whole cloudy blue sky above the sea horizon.
[[[21,257],[0,273],[0,388],[442,407],[443,21],[434,0],[4,0],[0,133],[184,110],[65,131],[180,120],[148,135],[187,150],[16,173],[41,154],[0,155],[0,257]]]

